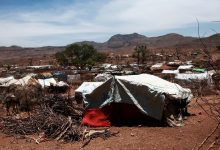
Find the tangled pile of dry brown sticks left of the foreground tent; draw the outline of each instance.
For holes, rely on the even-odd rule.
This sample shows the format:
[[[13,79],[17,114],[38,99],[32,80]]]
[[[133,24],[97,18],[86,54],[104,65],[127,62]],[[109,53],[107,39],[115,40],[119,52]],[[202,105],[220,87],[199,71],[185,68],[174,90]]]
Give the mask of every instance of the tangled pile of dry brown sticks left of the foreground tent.
[[[69,98],[48,95],[41,98],[40,105],[26,118],[1,117],[1,130],[9,136],[31,138],[38,144],[47,140],[82,141],[82,146],[93,138],[106,139],[117,134],[109,129],[91,131],[82,126],[83,112],[84,109]]]

